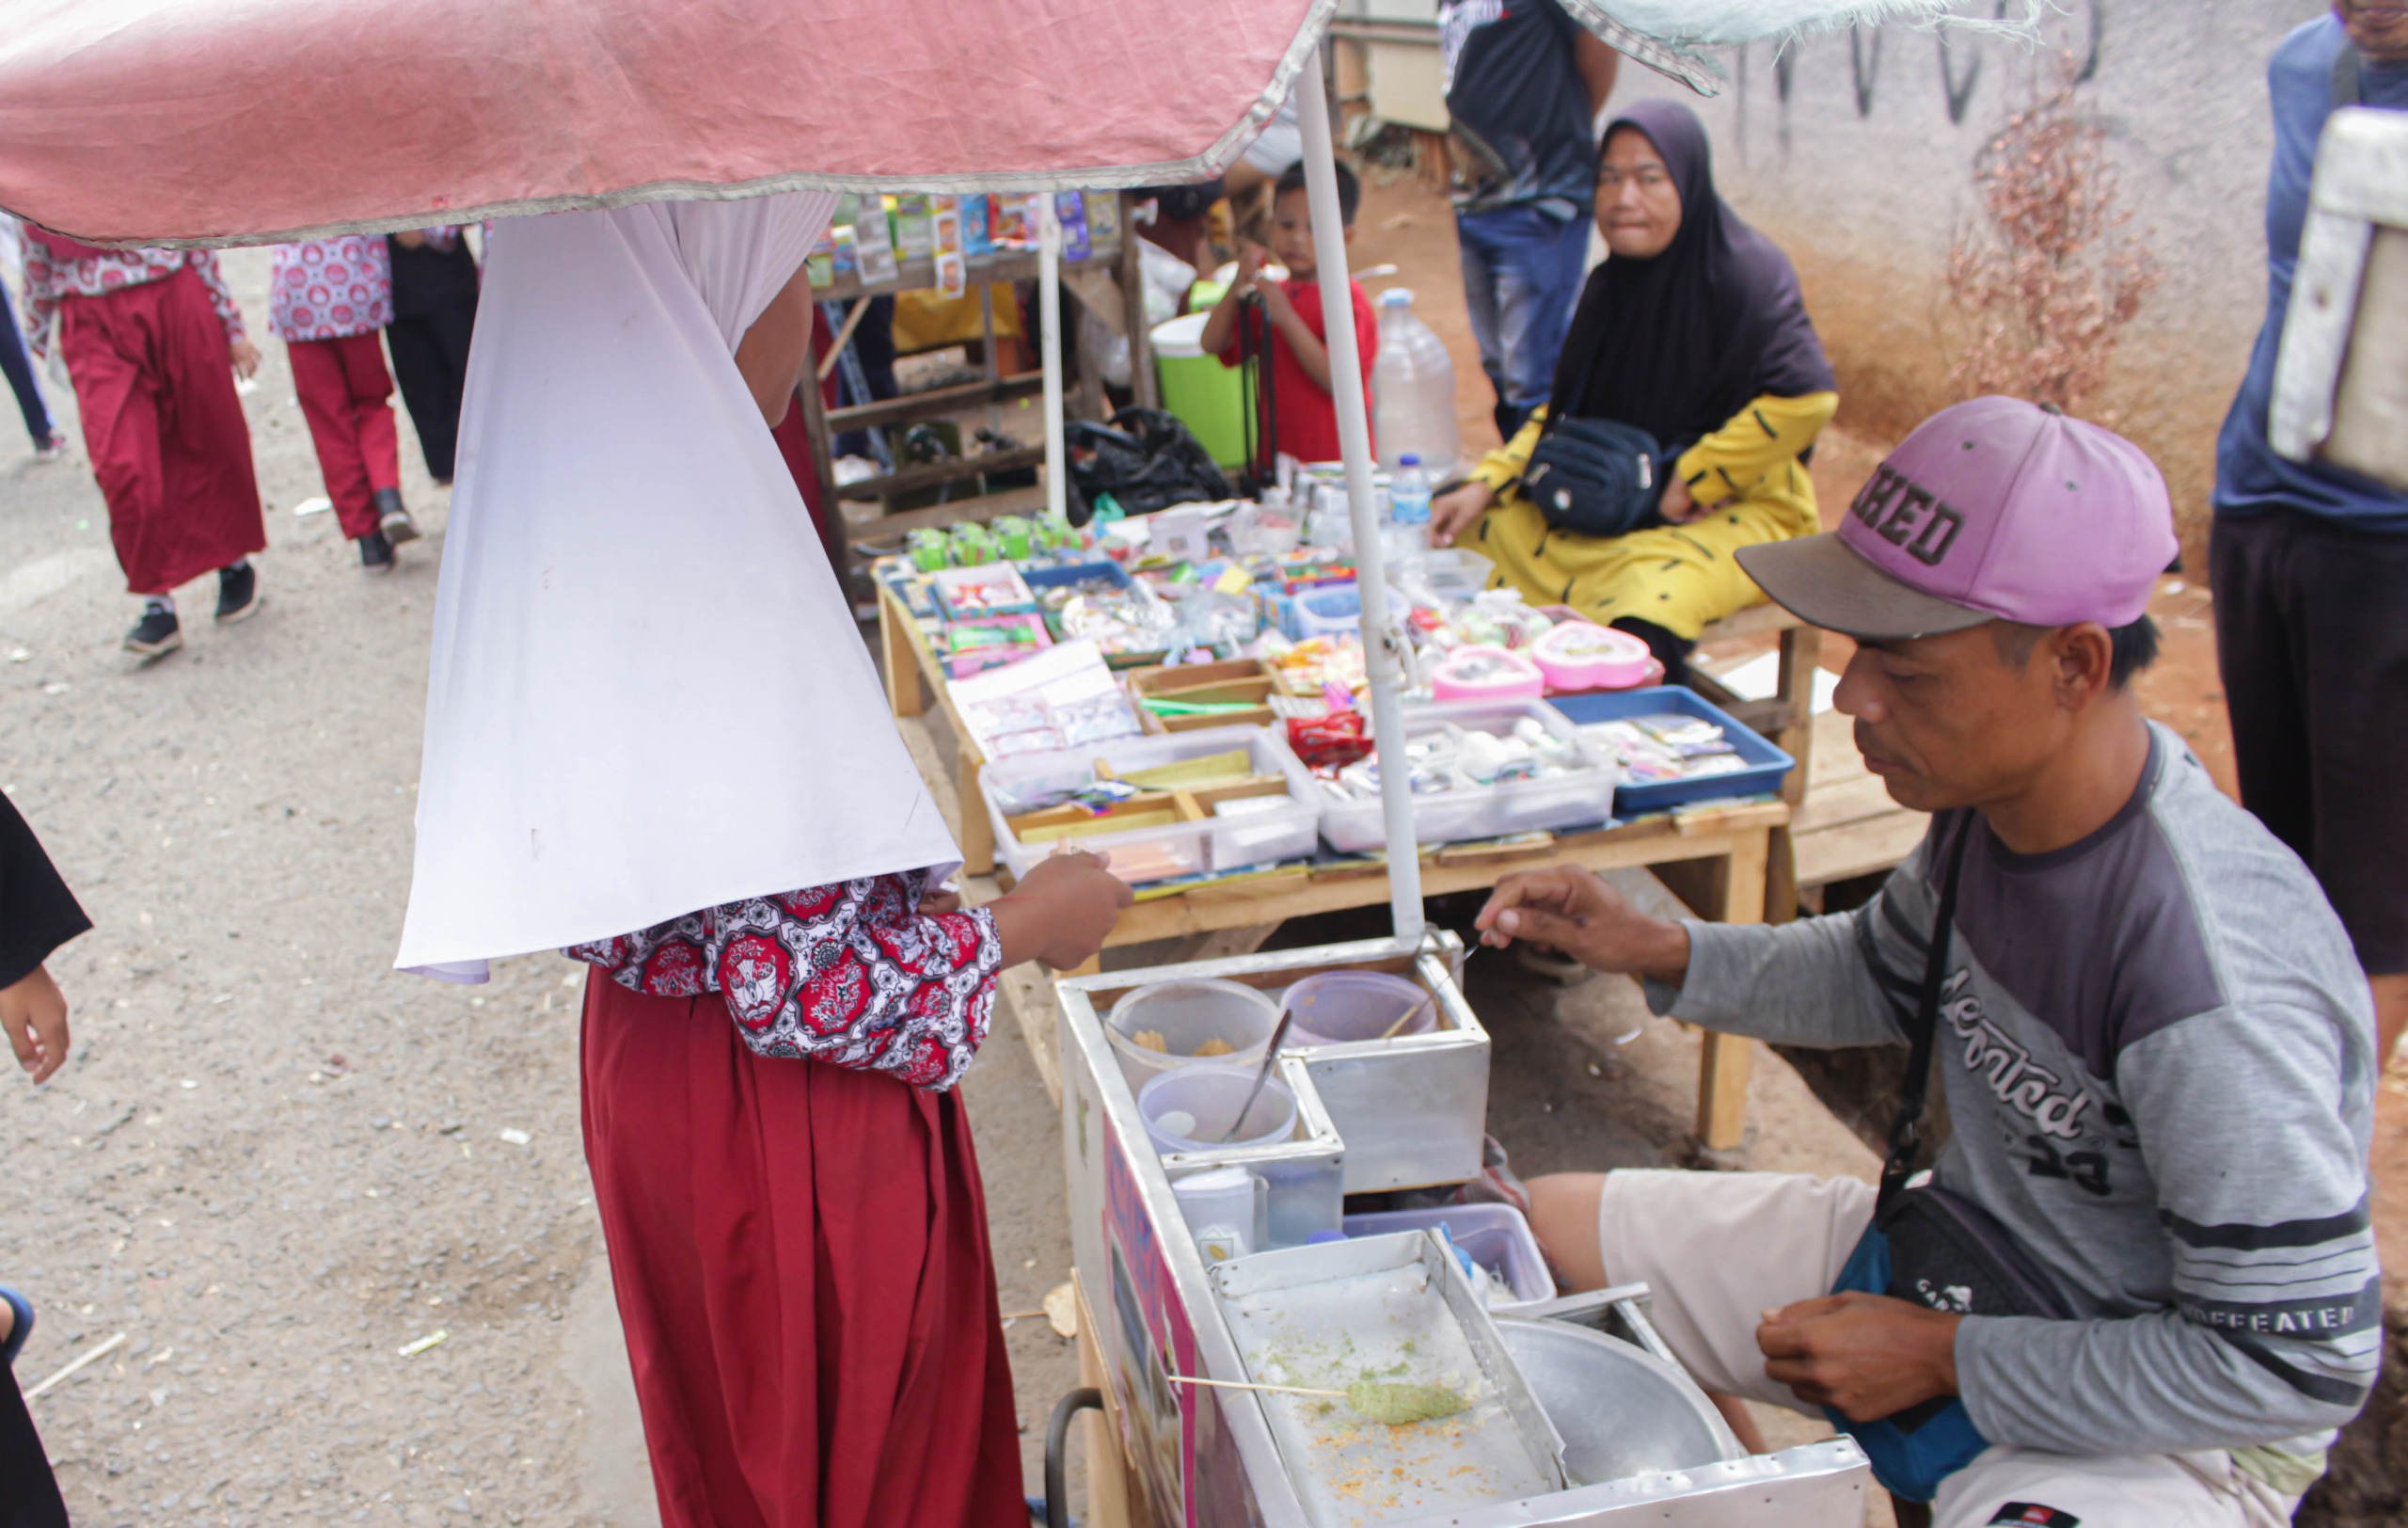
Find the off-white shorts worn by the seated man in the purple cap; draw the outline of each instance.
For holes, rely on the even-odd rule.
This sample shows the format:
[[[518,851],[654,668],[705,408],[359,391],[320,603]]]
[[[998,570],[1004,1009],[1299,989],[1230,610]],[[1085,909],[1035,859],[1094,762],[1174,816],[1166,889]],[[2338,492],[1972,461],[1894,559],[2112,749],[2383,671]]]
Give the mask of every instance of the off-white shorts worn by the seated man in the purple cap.
[[[1623,1169],[1597,1203],[1597,1251],[1613,1285],[1645,1282],[1647,1314],[1707,1391],[1823,1407],[1765,1376],[1763,1314],[1830,1294],[1864,1227],[1873,1188],[1804,1174]],[[1934,1528],[2283,1528],[2295,1499],[2235,1468],[2232,1456],[2088,1456],[1991,1446],[1941,1485]],[[2054,1514],[2054,1516],[2052,1516]]]

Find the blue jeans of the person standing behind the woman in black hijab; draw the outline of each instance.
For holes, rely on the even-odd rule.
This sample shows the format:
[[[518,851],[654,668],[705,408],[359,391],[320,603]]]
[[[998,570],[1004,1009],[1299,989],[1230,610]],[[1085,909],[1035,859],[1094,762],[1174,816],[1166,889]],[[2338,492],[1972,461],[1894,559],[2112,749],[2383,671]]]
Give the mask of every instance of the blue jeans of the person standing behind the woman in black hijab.
[[[1539,207],[1457,212],[1454,243],[1481,371],[1498,390],[1498,431],[1512,439],[1556,378],[1589,263],[1589,219],[1558,219]]]

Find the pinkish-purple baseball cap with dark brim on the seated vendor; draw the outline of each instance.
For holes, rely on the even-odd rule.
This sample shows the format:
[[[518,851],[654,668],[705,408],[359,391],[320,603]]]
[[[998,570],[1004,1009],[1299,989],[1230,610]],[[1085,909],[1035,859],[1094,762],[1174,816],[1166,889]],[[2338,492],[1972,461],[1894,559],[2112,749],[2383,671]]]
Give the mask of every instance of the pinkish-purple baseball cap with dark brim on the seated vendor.
[[[2148,456],[2020,398],[1924,419],[1828,535],[1739,550],[1801,619],[1866,641],[1989,619],[2124,627],[2174,562],[2174,506]]]

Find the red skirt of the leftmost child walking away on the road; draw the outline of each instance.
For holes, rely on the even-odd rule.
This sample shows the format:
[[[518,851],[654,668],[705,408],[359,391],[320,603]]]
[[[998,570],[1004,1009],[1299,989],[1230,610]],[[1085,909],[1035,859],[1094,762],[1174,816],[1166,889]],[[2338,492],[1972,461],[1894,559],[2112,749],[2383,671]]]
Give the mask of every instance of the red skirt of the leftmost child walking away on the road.
[[[267,547],[234,357],[193,270],[58,306],[125,588],[164,595]]]

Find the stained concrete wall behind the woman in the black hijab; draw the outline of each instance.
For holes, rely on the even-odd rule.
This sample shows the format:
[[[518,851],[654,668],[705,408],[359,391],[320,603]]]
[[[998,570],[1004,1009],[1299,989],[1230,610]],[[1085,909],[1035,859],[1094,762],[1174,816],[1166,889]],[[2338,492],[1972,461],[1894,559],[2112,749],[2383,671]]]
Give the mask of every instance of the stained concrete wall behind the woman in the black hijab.
[[[1688,96],[1741,217],[1796,260],[1840,371],[1840,419],[1881,436],[1950,402],[1943,272],[1975,214],[1972,161],[2068,48],[2107,128],[2131,231],[2162,280],[2093,412],[2165,468],[2203,523],[2215,427],[2264,316],[2266,58],[2319,0],[2059,0],[2052,46],[1902,27],[1724,55],[1698,101],[1625,65],[1616,101]],[[1982,12],[1989,5],[1979,5]]]

